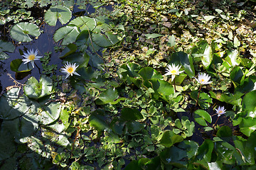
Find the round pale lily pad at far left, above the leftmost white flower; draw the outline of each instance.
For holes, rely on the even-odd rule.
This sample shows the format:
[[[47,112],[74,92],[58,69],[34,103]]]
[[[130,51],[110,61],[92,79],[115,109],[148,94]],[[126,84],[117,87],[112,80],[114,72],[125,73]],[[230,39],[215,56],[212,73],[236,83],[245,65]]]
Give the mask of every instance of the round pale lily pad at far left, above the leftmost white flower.
[[[41,33],[38,28],[33,23],[17,23],[11,28],[11,38],[21,42],[31,42],[31,37],[29,35],[38,37]]]

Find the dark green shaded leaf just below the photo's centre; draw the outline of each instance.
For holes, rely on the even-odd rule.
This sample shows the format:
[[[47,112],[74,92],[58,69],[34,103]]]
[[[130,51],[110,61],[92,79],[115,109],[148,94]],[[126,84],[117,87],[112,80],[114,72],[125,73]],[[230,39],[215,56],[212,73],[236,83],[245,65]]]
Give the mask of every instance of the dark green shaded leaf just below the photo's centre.
[[[142,113],[136,108],[123,108],[121,111],[121,119],[124,121],[139,120],[142,118],[144,118]]]

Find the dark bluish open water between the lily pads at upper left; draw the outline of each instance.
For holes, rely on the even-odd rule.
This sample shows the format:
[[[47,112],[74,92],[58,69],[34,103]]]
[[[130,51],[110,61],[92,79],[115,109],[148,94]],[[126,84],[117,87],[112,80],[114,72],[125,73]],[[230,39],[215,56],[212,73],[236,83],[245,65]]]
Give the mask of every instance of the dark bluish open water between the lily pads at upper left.
[[[102,6],[102,7],[105,7],[108,10],[112,10],[111,6]],[[78,6],[74,6],[73,14],[75,15],[73,15],[73,18],[75,18],[75,16],[85,15],[87,13],[94,13],[94,12],[95,12],[95,8],[93,8],[90,4],[88,4],[85,9],[79,9]],[[41,16],[37,16],[37,17],[40,18]],[[73,18],[71,18],[71,20]],[[56,26],[48,26],[46,23],[43,23],[43,25],[41,25],[40,27],[40,30],[43,30],[43,33],[41,33],[38,39],[33,38],[33,41],[22,42],[20,45],[18,44],[18,42],[14,41],[16,43],[15,51],[13,53],[7,52],[10,58],[0,62],[0,94],[3,93],[6,87],[15,85],[14,79],[15,81],[18,81],[18,83],[24,84],[29,77],[33,76],[33,77],[36,77],[36,79],[39,79],[41,75],[40,74],[41,72],[39,71],[39,69],[41,71],[43,70],[41,67],[41,62],[40,60],[36,60],[35,62],[36,62],[36,65],[39,67],[39,69],[38,67],[35,67],[34,69],[32,69],[31,74],[28,74],[23,79],[16,79],[16,73],[11,71],[10,64],[12,60],[23,59],[20,51],[26,52],[26,50],[31,50],[31,49],[38,50],[39,56],[43,56],[45,52],[52,52],[52,54],[50,55],[49,65],[57,64],[58,69],[56,71],[56,74],[61,75],[61,73],[59,72],[59,69],[60,67],[63,67],[63,64],[62,64],[62,60],[60,60],[59,57],[63,54],[61,54],[61,52],[56,53],[54,51],[54,47],[55,46],[60,47],[61,42],[57,42],[57,43],[54,42],[53,34],[55,33],[55,30],[57,30],[62,26],[65,26],[65,25],[61,25],[59,21],[57,21]],[[4,34],[4,30],[2,30],[0,34],[1,34],[0,37],[4,37],[4,35],[2,35]]]

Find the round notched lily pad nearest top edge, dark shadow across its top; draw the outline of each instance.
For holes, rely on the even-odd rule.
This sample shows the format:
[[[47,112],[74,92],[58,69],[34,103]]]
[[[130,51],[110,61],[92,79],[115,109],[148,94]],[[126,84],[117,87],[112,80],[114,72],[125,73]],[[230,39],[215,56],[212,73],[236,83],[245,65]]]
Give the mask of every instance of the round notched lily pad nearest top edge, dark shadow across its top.
[[[66,6],[50,6],[48,11],[45,13],[45,21],[49,26],[55,26],[57,20],[62,24],[68,23],[71,16],[72,13]]]

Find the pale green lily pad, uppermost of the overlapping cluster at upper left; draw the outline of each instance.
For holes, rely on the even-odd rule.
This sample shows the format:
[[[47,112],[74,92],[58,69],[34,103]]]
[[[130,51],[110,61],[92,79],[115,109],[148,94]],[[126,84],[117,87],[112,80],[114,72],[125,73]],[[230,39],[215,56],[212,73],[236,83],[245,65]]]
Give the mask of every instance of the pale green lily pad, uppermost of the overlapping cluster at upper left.
[[[70,21],[68,25],[75,25],[80,29],[80,31],[93,30],[97,26],[97,20],[95,18],[90,18],[88,16],[80,16],[78,18],[73,19],[73,21]]]

